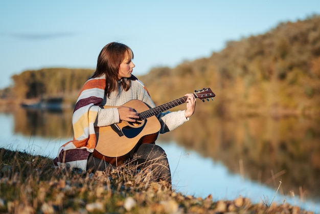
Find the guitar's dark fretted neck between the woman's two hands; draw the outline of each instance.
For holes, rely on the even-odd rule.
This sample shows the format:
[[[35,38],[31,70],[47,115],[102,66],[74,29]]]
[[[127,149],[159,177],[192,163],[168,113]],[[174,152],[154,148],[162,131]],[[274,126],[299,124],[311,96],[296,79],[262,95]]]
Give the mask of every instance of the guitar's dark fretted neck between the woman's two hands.
[[[185,103],[187,101],[187,99],[188,99],[188,97],[184,96],[179,99],[175,99],[175,100],[172,100],[172,101],[167,102],[165,104],[159,105],[155,108],[149,109],[147,111],[144,111],[139,114],[140,119],[144,120],[144,119],[147,119],[148,117],[151,117],[151,116],[157,115],[159,113],[162,113],[164,111],[167,111],[169,109],[172,109],[175,106],[178,106],[180,104]]]

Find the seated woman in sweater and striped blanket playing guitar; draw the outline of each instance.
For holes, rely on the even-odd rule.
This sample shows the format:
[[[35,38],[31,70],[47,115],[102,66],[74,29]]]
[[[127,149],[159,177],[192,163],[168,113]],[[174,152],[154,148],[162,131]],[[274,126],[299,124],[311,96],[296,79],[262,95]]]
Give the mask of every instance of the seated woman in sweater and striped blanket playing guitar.
[[[119,42],[107,44],[100,52],[97,69],[80,91],[73,113],[74,139],[62,145],[55,158],[58,166],[81,168],[82,170],[108,170],[112,165],[101,161],[95,155],[97,144],[96,127],[108,126],[120,121],[135,122],[138,113],[124,103],[138,99],[154,108],[144,85],[132,75],[134,63],[131,49]],[[186,94],[187,108],[184,111],[166,112],[157,115],[161,124],[159,133],[174,130],[189,120],[195,110],[195,97]],[[115,106],[103,109],[101,106]],[[117,107],[118,106],[118,107]],[[127,156],[126,160],[149,165],[156,181],[163,180],[171,185],[168,159],[164,150],[154,143],[138,144]],[[105,159],[104,159],[105,160]],[[156,163],[156,164],[153,164]],[[114,163],[112,163],[114,164]],[[119,163],[118,163],[119,165]],[[153,166],[161,166],[155,169]]]

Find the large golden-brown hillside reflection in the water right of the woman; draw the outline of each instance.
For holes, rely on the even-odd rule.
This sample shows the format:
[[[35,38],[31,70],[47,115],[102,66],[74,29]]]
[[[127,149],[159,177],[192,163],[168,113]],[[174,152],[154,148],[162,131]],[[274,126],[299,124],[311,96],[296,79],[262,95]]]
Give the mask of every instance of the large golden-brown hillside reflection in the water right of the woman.
[[[203,118],[171,138],[232,173],[278,187],[282,194],[320,198],[320,120],[314,118]],[[169,137],[168,137],[169,138]]]

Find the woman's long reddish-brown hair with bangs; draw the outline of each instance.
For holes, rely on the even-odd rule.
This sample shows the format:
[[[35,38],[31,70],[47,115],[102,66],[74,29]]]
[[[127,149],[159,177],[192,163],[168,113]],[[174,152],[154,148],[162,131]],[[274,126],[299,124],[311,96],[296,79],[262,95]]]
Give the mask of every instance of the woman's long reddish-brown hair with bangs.
[[[105,94],[109,96],[112,91],[118,89],[118,73],[121,62],[126,56],[133,58],[132,50],[119,42],[110,42],[101,50],[98,61],[97,69],[92,78],[100,77],[105,74],[106,76],[106,89]],[[126,78],[123,79],[120,84],[125,91],[128,91],[131,83]]]

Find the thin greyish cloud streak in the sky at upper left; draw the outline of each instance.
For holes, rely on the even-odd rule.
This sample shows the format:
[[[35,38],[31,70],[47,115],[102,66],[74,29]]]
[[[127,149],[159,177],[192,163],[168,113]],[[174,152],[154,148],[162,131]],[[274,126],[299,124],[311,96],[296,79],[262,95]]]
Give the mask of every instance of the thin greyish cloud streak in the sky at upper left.
[[[44,39],[55,39],[62,37],[74,36],[72,32],[59,32],[59,33],[1,33],[2,36],[8,36],[18,39],[26,40],[44,40]]]

